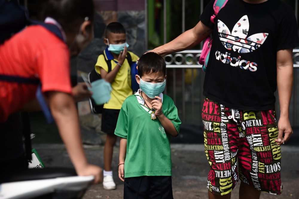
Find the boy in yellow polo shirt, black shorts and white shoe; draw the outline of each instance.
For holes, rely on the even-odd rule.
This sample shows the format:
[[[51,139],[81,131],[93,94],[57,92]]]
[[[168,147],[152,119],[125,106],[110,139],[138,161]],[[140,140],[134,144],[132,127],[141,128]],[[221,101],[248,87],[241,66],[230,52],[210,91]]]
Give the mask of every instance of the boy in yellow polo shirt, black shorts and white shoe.
[[[132,62],[136,62],[138,56],[127,51],[129,45],[126,43],[126,30],[118,22],[107,25],[104,42],[107,48],[98,57],[95,70],[102,79],[110,82],[112,86],[111,99],[104,104],[101,128],[103,132],[107,133],[104,147],[103,187],[106,190],[112,190],[116,188],[111,170],[113,147],[117,138],[114,131],[121,105],[129,95],[133,94],[131,63],[128,60],[131,59]]]

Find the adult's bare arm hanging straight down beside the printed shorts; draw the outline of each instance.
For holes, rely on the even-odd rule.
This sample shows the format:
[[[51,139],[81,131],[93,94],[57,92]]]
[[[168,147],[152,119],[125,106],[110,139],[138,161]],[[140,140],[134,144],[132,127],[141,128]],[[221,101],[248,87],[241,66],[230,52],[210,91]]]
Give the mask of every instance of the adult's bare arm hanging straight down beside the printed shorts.
[[[292,48],[277,51],[277,88],[279,95],[280,117],[278,120],[277,144],[289,140],[293,130],[289,120],[289,106],[293,88]],[[283,137],[284,134],[284,137]]]

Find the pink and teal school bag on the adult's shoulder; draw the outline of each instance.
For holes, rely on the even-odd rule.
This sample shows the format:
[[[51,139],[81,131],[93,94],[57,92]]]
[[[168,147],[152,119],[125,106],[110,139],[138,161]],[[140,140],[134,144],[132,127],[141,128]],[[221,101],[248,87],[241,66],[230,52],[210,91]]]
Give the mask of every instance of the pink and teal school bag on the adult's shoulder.
[[[215,24],[214,20],[215,17],[218,15],[219,11],[225,6],[228,0],[215,0],[213,9],[214,9],[214,14],[211,16],[211,22]],[[199,64],[202,65],[202,70],[205,72],[207,70],[208,66],[208,60],[210,56],[210,50],[212,47],[212,41],[213,41],[213,36],[210,34],[207,36],[205,39],[204,45],[202,47],[202,53],[199,57]]]

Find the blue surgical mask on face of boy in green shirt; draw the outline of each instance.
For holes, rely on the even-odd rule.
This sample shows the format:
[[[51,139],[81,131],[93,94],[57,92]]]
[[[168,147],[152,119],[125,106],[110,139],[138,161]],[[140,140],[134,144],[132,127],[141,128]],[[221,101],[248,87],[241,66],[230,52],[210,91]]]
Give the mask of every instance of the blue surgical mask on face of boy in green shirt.
[[[140,76],[139,76],[140,78]],[[164,79],[164,82],[160,83],[151,83],[151,82],[145,82],[140,78],[140,84],[139,84],[141,90],[151,99],[154,99],[155,96],[158,96],[160,93],[162,93],[166,86],[166,79]]]

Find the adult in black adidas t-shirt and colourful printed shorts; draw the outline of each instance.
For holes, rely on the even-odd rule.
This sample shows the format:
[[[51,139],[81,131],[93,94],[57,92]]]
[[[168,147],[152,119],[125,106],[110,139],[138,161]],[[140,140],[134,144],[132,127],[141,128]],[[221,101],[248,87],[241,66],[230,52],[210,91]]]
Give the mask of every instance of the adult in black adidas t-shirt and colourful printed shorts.
[[[294,12],[279,0],[228,0],[214,24],[213,4],[211,0],[195,27],[152,51],[165,56],[192,48],[213,34],[202,111],[211,166],[209,198],[230,198],[238,174],[240,198],[259,198],[260,191],[281,194],[280,144],[293,133],[292,49],[299,46]]]

